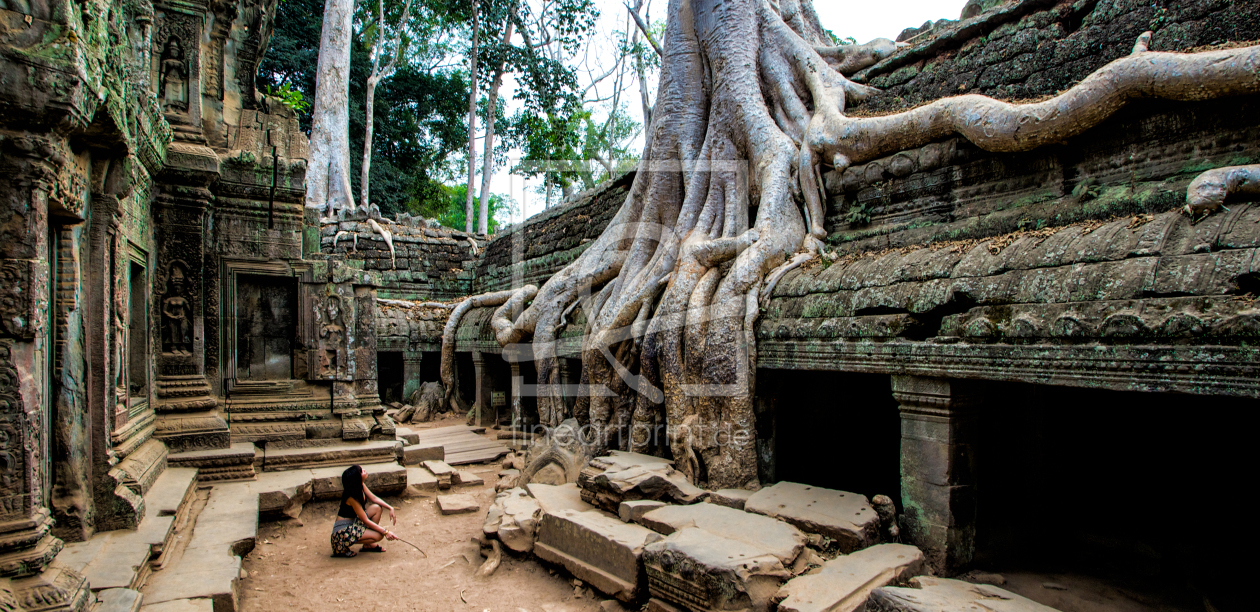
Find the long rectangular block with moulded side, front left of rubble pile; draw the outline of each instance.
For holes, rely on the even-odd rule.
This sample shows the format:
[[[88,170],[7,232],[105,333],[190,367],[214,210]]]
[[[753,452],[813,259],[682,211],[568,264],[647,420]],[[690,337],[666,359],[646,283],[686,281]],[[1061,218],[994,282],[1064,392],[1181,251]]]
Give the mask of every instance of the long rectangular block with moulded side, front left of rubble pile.
[[[534,554],[564,565],[604,594],[631,602],[643,582],[644,547],[659,539],[650,529],[604,513],[558,510],[543,514]]]

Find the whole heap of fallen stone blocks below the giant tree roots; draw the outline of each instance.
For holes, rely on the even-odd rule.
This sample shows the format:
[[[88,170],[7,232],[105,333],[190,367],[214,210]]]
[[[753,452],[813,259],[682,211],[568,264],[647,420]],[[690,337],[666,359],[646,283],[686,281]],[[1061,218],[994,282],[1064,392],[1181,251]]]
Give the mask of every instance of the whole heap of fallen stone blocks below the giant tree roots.
[[[633,609],[1051,609],[997,587],[920,575],[924,554],[890,543],[890,502],[795,482],[709,492],[668,460],[614,451],[576,484],[499,491],[483,533]]]

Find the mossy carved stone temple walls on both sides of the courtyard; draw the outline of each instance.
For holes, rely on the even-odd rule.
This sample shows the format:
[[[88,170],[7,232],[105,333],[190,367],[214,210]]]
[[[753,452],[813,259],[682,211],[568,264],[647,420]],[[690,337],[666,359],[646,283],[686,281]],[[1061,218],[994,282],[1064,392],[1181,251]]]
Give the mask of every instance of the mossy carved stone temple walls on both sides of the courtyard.
[[[255,481],[268,453],[392,461],[396,411],[425,397],[485,427],[592,419],[590,302],[556,327],[546,388],[539,344],[496,339],[507,297],[456,305],[542,286],[640,178],[490,238],[374,208],[321,218],[302,207],[306,135],[253,84],[275,6],[0,0],[0,609],[94,606],[74,547],[152,525],[174,475],[193,491]],[[1133,96],[1031,150],[949,133],[824,171],[830,257],[753,302],[748,486],[888,496],[937,575],[1068,539],[1099,563],[1177,565],[1232,602],[1228,538],[1162,526],[1184,519],[1174,492],[1232,506],[1249,465],[1237,419],[1260,398],[1260,207],[1239,179],[1223,207],[1184,208],[1203,173],[1260,164],[1246,52],[1260,3],[969,10],[850,74],[883,92],[850,115],[961,93],[1043,101],[1147,31],[1152,53],[1251,53],[1250,84]],[[596,453],[683,460],[668,416],[610,405]],[[577,481],[592,450],[541,439],[519,484]],[[716,489],[704,461],[687,473]],[[234,609],[227,593],[213,609]]]

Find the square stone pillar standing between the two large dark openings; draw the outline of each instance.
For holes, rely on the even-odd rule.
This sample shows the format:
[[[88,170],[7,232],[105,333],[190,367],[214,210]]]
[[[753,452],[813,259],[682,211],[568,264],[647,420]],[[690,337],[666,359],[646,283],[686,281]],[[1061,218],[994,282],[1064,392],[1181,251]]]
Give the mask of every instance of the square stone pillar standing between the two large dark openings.
[[[975,412],[968,382],[892,377],[901,404],[901,501],[906,539],[937,575],[975,554]]]

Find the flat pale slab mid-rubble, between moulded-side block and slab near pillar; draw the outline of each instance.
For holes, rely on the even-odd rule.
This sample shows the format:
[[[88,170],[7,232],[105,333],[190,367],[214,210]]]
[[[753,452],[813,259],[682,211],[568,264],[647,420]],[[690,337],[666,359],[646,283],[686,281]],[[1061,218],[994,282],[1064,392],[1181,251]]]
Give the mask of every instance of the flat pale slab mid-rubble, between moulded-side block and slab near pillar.
[[[662,535],[689,526],[699,528],[770,553],[784,567],[790,567],[805,548],[805,534],[781,520],[716,504],[664,506],[644,514],[639,523]]]

